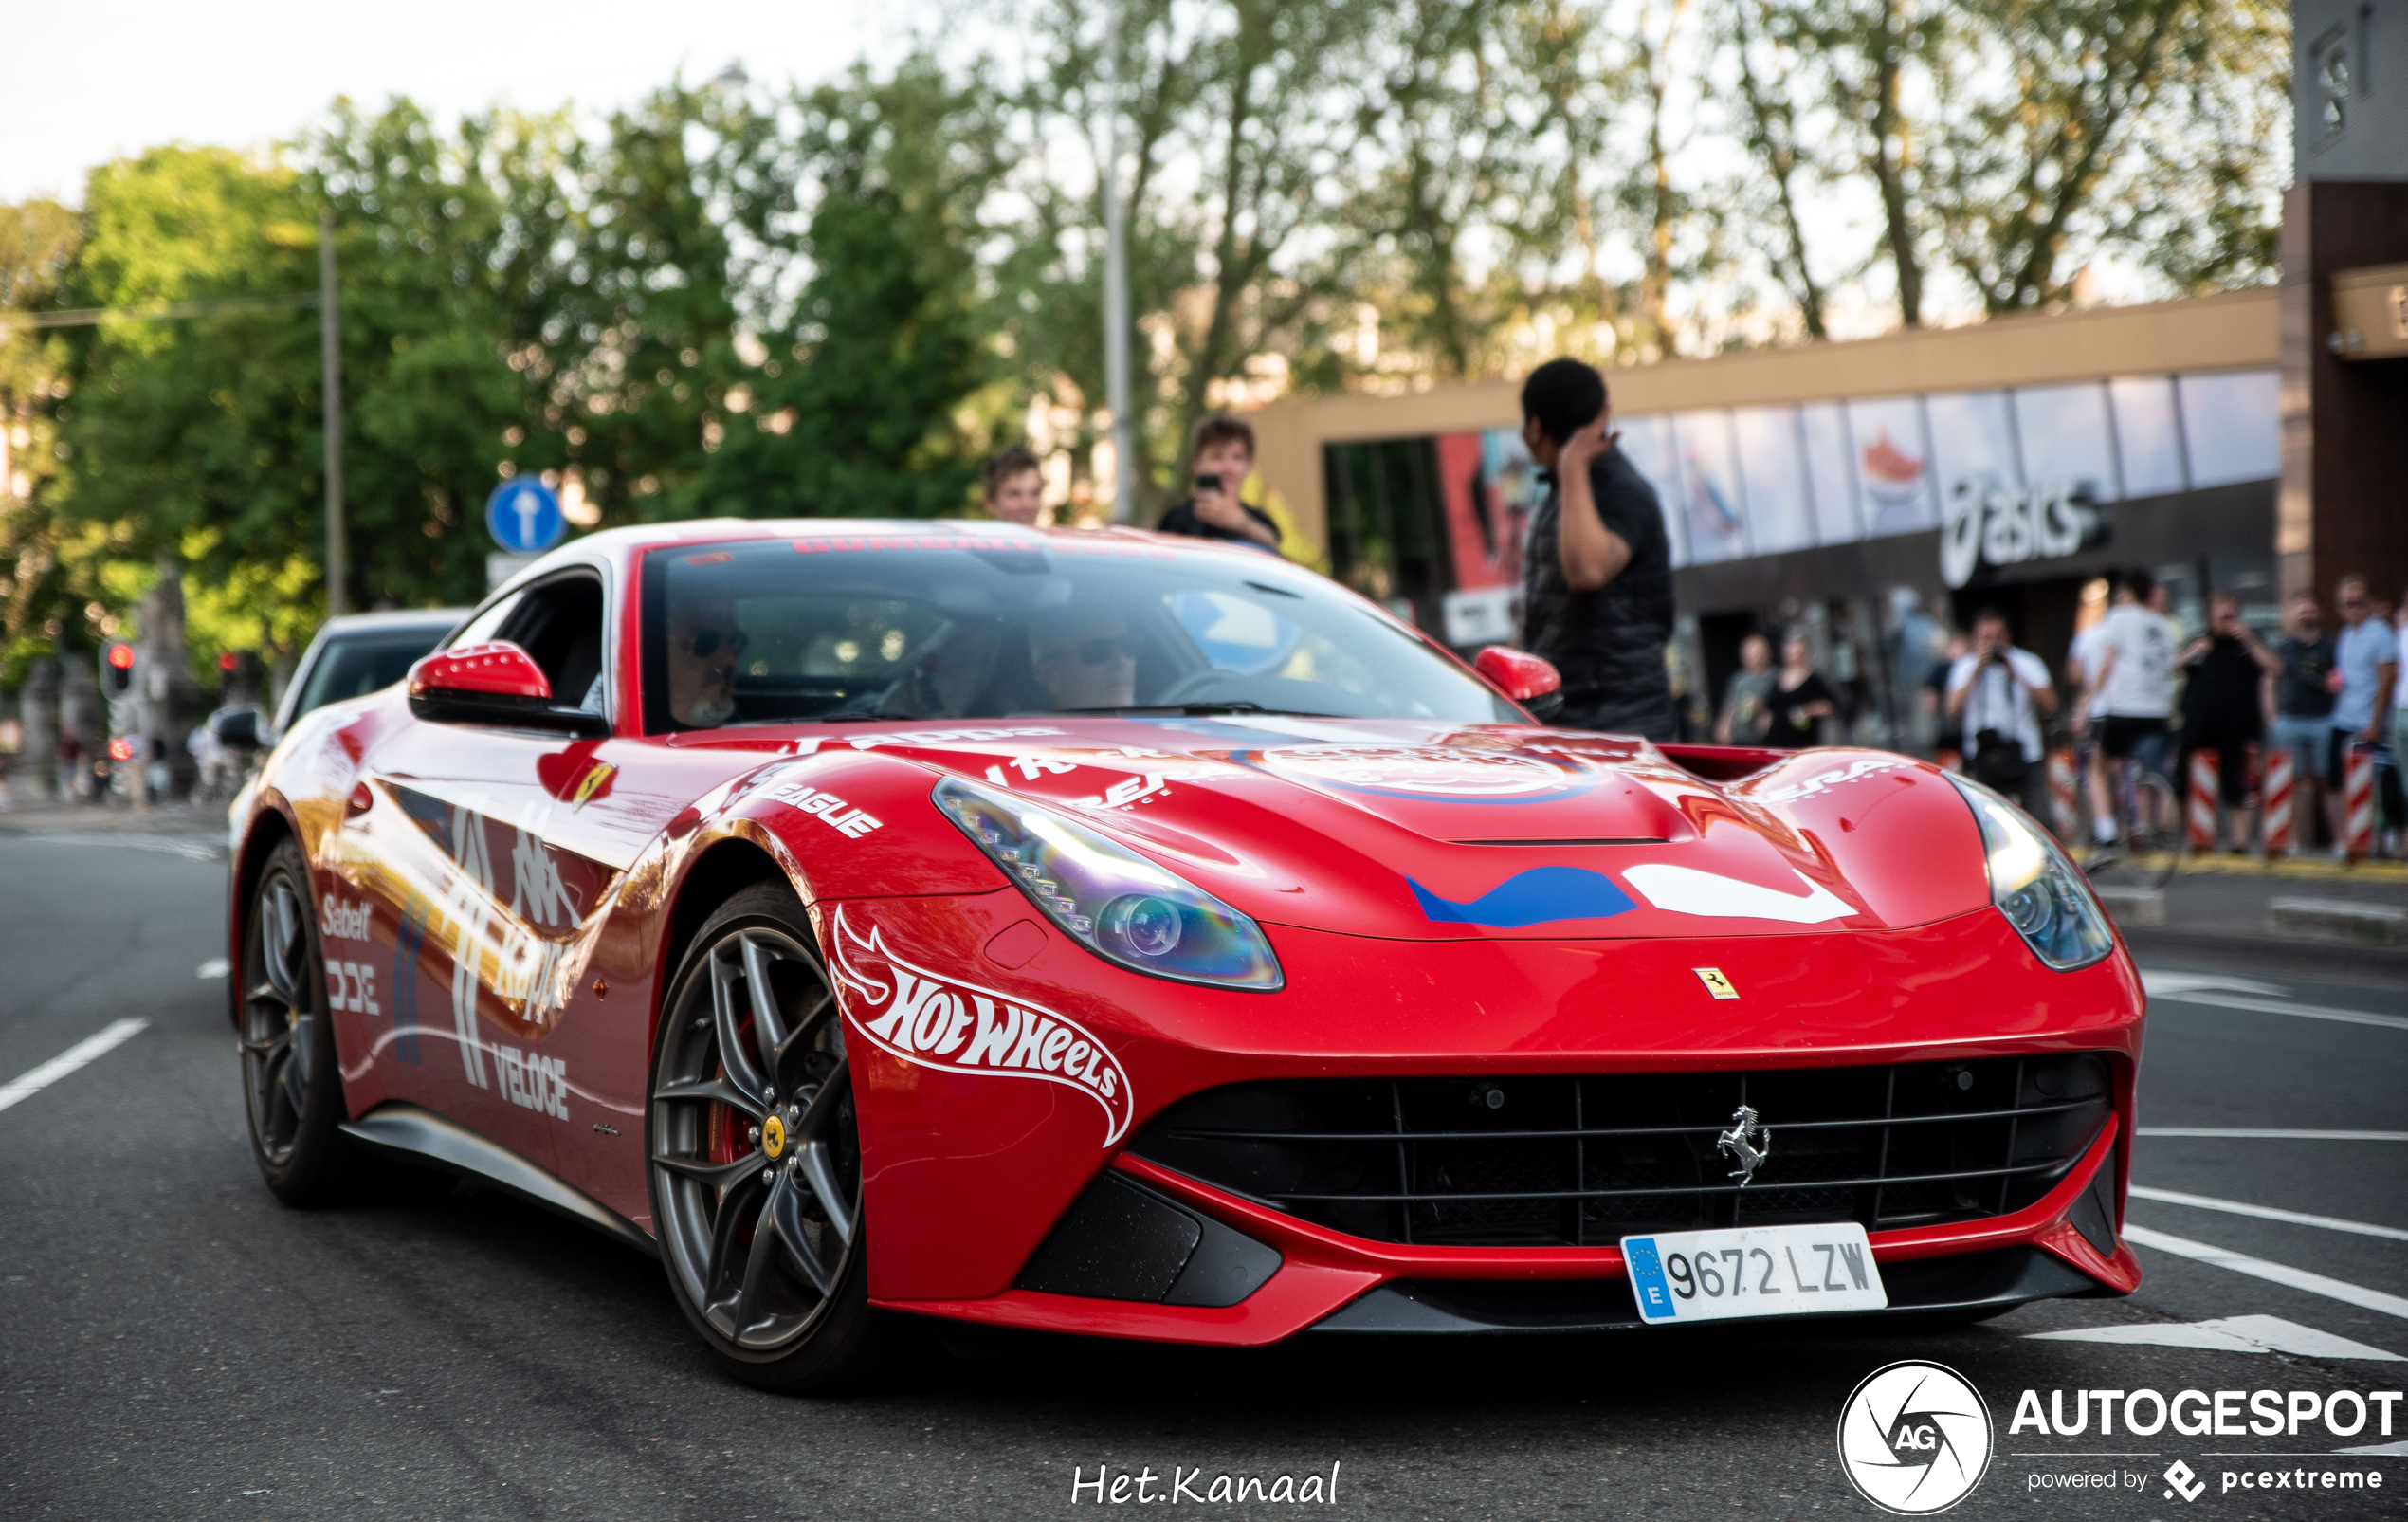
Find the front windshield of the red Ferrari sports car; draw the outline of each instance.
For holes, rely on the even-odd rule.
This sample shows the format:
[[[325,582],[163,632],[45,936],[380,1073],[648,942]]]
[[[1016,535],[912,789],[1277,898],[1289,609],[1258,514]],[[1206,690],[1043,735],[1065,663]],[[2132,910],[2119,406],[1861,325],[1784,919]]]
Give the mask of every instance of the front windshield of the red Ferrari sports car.
[[[645,556],[645,727],[1259,710],[1519,722],[1413,631],[1269,556],[982,535]]]

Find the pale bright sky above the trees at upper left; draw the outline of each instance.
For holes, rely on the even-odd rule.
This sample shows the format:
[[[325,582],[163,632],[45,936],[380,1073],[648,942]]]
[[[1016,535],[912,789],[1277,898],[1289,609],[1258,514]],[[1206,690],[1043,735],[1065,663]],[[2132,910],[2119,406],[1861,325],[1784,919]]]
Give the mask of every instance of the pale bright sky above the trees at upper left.
[[[607,111],[742,60],[761,84],[898,58],[908,0],[5,0],[0,202],[82,200],[84,173],[164,142],[265,147],[337,94],[438,116],[496,101]]]

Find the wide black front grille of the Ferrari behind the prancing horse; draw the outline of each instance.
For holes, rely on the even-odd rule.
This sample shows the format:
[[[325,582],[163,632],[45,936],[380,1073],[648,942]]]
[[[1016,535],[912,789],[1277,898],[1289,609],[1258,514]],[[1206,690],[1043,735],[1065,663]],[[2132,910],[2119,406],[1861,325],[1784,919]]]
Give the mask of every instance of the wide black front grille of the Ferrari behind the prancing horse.
[[[1714,1142],[1753,1105],[1755,1178]],[[1180,1101],[1141,1158],[1382,1243],[1592,1247],[1792,1221],[1979,1221],[2047,1194],[2109,1110],[2097,1052],[1770,1072],[1293,1079]]]

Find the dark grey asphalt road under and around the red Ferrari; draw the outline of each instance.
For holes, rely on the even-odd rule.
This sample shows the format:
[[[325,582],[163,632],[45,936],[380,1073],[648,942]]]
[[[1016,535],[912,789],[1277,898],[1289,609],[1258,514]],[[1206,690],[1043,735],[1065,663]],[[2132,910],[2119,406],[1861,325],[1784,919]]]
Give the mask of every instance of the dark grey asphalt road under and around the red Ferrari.
[[[197,975],[219,956],[207,855],[200,840],[0,838],[0,1084],[147,1021],[0,1108],[0,1515],[1076,1517],[1098,1503],[1074,1505],[1074,1471],[1108,1464],[1151,1467],[1156,1496],[1173,1469],[1202,1467],[1206,1483],[1339,1469],[1336,1508],[1178,1515],[1873,1517],[1832,1433],[1849,1390],[1898,1358],[1958,1368],[1996,1418],[1996,1459],[1958,1515],[2408,1510],[2408,1404],[2389,1438],[2374,1421],[2350,1438],[2314,1423],[2297,1438],[2008,1430],[2023,1390],[2401,1390],[2408,1139],[2143,1132],[2141,1187],[2391,1233],[2133,1199],[2143,1231],[2278,1279],[2304,1269],[2316,1288],[2141,1245],[2148,1284],[2129,1300],[1950,1332],[1305,1339],[1245,1356],[1081,1344],[927,1353],[850,1399],[756,1394],[686,1334],[657,1264],[506,1197],[277,1207],[243,1142],[222,983]],[[2408,1134],[2408,987],[2220,975],[2160,997],[2141,1125]],[[2273,1320],[2227,1327],[2225,1346],[2035,1339],[2218,1341],[2194,1325],[2225,1317]],[[2379,1443],[2398,1452],[2333,1455]],[[2206,1483],[2196,1500],[2160,1479],[2177,1459]],[[2223,1491],[2225,1471],[2276,1464],[2309,1486],[2377,1471],[2382,1491]],[[2100,1471],[2133,1483],[2035,1488]]]

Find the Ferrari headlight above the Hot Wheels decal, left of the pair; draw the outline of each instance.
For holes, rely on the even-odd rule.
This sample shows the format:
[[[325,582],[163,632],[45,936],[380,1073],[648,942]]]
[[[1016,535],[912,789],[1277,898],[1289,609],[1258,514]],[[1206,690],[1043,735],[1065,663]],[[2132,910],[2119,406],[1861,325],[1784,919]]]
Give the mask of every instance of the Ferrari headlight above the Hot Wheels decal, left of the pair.
[[[944,778],[932,795],[1045,918],[1137,973],[1274,990],[1286,983],[1262,927],[1185,877],[1043,804]]]

